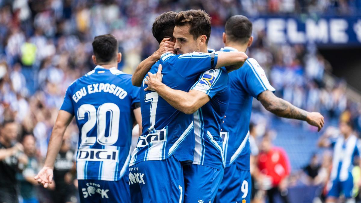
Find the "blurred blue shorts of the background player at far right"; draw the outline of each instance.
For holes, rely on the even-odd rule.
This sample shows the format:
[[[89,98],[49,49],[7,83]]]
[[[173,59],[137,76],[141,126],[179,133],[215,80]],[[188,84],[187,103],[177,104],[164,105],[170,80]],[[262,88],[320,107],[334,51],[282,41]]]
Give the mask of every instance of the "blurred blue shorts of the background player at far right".
[[[353,190],[353,177],[352,177],[352,173],[349,172],[346,181],[340,181],[339,178],[336,178],[334,181],[332,181],[332,187],[327,197],[338,198],[340,194],[344,194],[345,198],[352,198],[353,196],[352,190]]]

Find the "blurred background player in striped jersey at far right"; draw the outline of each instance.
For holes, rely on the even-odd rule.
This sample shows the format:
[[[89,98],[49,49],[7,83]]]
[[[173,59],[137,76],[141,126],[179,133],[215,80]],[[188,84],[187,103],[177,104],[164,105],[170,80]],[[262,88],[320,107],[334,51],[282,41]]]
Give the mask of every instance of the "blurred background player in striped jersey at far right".
[[[341,120],[339,129],[340,135],[335,141],[330,141],[331,134],[324,134],[318,143],[319,147],[332,147],[334,150],[330,175],[332,187],[326,202],[338,202],[340,195],[343,194],[344,202],[354,203],[352,169],[355,157],[360,158],[361,141],[353,132],[352,121]],[[360,161],[358,163],[360,164]]]

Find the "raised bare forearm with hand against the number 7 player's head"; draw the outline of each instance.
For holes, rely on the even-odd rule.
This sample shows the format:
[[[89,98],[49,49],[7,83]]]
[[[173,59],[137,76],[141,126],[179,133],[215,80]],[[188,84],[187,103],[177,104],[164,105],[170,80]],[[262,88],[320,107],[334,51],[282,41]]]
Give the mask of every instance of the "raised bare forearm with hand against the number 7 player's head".
[[[175,53],[174,52],[174,42],[169,41],[170,38],[164,38],[159,45],[159,49],[155,51],[151,56],[147,59],[140,62],[140,64],[136,67],[134,74],[132,75],[132,84],[134,86],[140,87],[143,82],[143,78],[151,69],[152,65],[157,62],[161,55],[166,52]]]

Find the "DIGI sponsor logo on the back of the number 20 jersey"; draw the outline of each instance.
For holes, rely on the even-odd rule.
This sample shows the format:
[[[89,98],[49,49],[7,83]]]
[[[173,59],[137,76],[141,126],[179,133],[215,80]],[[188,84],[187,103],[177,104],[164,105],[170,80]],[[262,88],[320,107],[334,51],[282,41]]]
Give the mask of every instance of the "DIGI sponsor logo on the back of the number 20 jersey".
[[[115,161],[118,160],[117,150],[87,149],[79,150],[78,160],[84,161]]]

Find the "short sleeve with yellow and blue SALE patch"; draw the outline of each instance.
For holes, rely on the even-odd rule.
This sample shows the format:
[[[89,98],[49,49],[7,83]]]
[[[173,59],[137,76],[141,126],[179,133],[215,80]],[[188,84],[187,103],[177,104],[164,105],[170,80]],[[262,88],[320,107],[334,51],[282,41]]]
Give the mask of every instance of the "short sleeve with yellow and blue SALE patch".
[[[222,92],[228,85],[228,73],[222,68],[210,69],[200,75],[191,90],[204,92],[213,98],[217,92]]]

